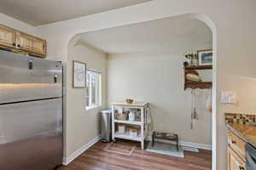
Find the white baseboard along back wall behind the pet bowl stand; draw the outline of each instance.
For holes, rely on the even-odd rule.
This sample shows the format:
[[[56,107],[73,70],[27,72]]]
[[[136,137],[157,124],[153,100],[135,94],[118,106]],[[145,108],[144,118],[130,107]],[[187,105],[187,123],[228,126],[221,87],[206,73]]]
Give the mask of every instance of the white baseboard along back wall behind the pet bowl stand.
[[[151,137],[148,138],[150,141],[152,140]],[[168,140],[162,140],[162,139],[156,139],[156,141],[168,143],[168,144],[176,144],[174,141],[168,141]],[[187,146],[191,148],[197,148],[201,150],[212,150],[212,145],[211,144],[199,144],[199,143],[193,143],[193,142],[187,142],[180,140],[179,144],[182,146]]]

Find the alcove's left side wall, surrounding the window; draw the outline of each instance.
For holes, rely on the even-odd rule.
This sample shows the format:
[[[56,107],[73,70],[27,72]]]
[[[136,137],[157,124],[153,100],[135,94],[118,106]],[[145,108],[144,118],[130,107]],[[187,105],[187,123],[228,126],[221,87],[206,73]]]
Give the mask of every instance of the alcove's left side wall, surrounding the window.
[[[65,155],[70,156],[99,135],[99,111],[107,100],[107,55],[79,42],[74,37],[68,46],[67,111],[65,115]],[[73,60],[88,63],[88,68],[102,72],[102,107],[85,110],[85,88],[72,88]]]

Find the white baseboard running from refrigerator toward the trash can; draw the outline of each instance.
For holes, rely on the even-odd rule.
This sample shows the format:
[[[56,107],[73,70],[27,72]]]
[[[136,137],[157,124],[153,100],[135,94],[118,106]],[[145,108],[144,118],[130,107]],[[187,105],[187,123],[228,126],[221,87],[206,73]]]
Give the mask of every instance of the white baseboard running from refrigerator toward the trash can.
[[[96,144],[96,142],[99,141],[100,139],[101,139],[100,137],[96,137],[95,139],[90,140],[90,142],[88,142],[87,144],[84,144],[84,146],[82,146],[79,150],[74,151],[73,154],[71,154],[71,156],[63,157],[62,164],[67,165],[68,163],[73,161],[76,157],[80,156],[85,150],[88,150],[90,146],[92,146],[93,144]]]

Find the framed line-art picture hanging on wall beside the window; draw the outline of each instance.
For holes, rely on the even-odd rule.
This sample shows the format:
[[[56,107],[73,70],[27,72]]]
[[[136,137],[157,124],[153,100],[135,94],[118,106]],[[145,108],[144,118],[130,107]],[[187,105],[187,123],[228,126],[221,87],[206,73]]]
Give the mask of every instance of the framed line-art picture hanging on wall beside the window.
[[[73,61],[73,88],[85,88],[86,64]]]

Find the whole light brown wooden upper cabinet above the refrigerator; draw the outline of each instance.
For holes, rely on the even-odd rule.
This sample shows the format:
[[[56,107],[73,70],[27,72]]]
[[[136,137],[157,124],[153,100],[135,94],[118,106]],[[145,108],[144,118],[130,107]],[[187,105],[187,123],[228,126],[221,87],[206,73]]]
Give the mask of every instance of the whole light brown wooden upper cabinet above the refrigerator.
[[[46,41],[21,31],[0,25],[0,46],[24,50],[31,55],[45,57]]]

